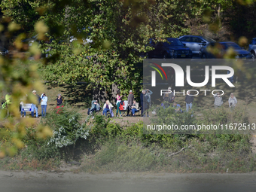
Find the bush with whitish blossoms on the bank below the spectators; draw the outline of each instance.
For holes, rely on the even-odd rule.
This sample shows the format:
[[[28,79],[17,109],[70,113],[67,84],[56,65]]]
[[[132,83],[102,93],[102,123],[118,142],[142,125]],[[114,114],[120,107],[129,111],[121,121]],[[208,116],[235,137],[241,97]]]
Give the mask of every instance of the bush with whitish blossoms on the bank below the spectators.
[[[67,106],[57,111],[57,109],[50,111],[46,118],[41,119],[43,125],[53,129],[53,136],[47,140],[47,145],[49,148],[51,146],[59,148],[59,152],[66,160],[75,159],[80,153],[80,151],[76,153],[76,145],[81,145],[83,141],[80,139],[84,141],[87,139],[88,127],[85,123],[81,123],[81,114],[77,111],[70,111]]]

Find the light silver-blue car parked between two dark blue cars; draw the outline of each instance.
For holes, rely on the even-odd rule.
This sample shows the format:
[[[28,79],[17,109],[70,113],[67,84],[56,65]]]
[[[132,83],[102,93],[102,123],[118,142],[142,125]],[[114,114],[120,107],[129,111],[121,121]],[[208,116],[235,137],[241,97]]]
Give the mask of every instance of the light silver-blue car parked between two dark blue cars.
[[[193,55],[199,55],[200,48],[206,44],[213,43],[215,40],[208,37],[196,36],[196,35],[184,35],[178,38],[182,44],[186,44],[186,47],[190,47]]]

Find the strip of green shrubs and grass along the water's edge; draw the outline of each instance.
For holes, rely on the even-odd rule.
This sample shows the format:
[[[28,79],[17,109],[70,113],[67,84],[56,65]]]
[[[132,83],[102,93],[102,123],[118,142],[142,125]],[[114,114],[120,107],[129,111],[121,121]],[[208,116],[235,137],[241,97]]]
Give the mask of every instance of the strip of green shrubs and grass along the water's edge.
[[[0,160],[0,169],[61,171],[64,162],[72,161],[78,165],[75,172],[227,172],[227,169],[228,172],[251,172],[256,169],[250,132],[147,135],[143,134],[142,121],[120,126],[119,118],[110,120],[99,115],[85,122],[78,111],[69,110],[64,108],[61,114],[51,111],[38,122],[50,125],[55,131],[59,131],[59,127],[66,130],[56,134],[59,140],[57,137],[54,141],[37,139],[35,129],[30,127],[23,138],[25,147],[14,157]],[[223,110],[220,117],[230,115],[230,111],[220,110]],[[208,118],[209,113],[205,112],[200,120],[206,122]],[[82,133],[72,132],[78,127],[88,133],[86,139]],[[2,146],[11,144],[8,129],[2,127],[1,130],[5,133]],[[75,134],[80,135],[75,138]],[[75,142],[62,139],[64,136]]]

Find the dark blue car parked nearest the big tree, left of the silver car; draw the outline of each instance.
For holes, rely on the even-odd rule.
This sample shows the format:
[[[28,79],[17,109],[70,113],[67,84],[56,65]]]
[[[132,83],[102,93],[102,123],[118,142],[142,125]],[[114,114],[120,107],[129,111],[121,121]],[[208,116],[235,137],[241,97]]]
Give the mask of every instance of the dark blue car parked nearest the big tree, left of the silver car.
[[[155,43],[152,39],[150,46],[154,50],[148,52],[148,58],[192,58],[192,51],[185,47],[178,38],[166,38],[165,42]]]

